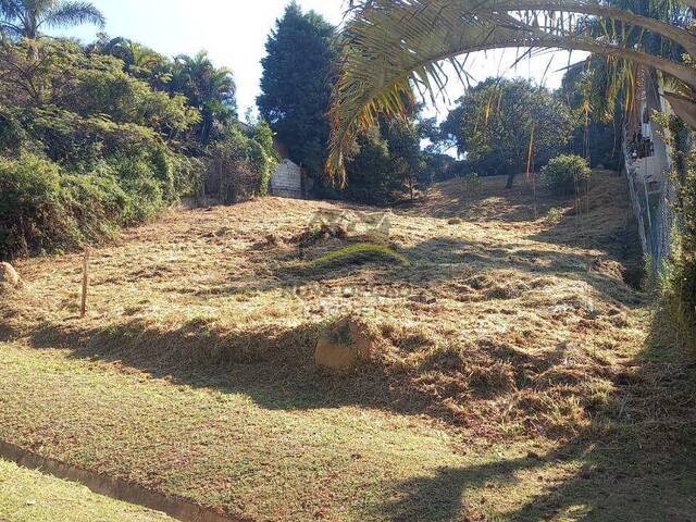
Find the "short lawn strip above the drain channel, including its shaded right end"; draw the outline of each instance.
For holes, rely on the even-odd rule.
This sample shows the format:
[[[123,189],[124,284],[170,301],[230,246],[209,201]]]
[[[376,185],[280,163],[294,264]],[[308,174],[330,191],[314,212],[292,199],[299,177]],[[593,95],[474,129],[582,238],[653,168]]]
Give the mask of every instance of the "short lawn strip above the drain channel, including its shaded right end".
[[[243,390],[195,376],[190,385],[9,344],[0,373],[1,438],[248,520],[693,513],[688,459],[631,445],[478,444],[418,415],[321,407],[319,397],[300,407],[272,385]]]

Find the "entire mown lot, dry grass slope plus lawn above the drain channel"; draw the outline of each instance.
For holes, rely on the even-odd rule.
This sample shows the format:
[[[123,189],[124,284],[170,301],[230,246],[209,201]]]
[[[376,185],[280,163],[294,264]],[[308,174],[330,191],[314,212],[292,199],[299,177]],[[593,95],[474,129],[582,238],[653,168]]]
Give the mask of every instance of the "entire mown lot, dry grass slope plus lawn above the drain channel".
[[[623,179],[504,185],[171,212],[92,249],[84,319],[82,256],[17,261],[0,439],[239,521],[696,520],[696,366]],[[375,349],[322,371],[346,315]]]

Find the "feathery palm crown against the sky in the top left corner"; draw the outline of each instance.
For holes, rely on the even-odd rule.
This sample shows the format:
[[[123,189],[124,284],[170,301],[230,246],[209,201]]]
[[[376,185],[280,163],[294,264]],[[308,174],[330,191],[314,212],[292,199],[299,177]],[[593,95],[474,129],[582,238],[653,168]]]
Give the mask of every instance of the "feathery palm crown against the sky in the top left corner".
[[[67,0],[0,0],[0,33],[13,38],[38,38],[39,29],[91,23],[104,16],[90,2]]]

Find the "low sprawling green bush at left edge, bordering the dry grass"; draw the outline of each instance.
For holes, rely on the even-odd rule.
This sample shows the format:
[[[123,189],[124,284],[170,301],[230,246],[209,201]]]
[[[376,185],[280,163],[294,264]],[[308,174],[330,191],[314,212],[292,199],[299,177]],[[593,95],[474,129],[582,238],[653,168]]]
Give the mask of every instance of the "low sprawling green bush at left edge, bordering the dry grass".
[[[0,156],[0,258],[76,247],[151,217],[176,196],[166,194],[172,169],[120,158],[75,173],[30,152]]]

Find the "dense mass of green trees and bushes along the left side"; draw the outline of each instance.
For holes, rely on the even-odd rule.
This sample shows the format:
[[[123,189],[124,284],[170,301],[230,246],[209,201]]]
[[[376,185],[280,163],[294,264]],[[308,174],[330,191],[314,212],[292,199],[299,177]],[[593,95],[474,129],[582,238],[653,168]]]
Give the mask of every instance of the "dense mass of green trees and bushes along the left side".
[[[244,197],[268,190],[271,132],[262,122],[241,130],[228,71],[204,54],[171,61],[105,41],[0,46],[2,258],[98,241],[148,220],[197,194],[219,150],[239,159],[231,169],[250,179]]]

